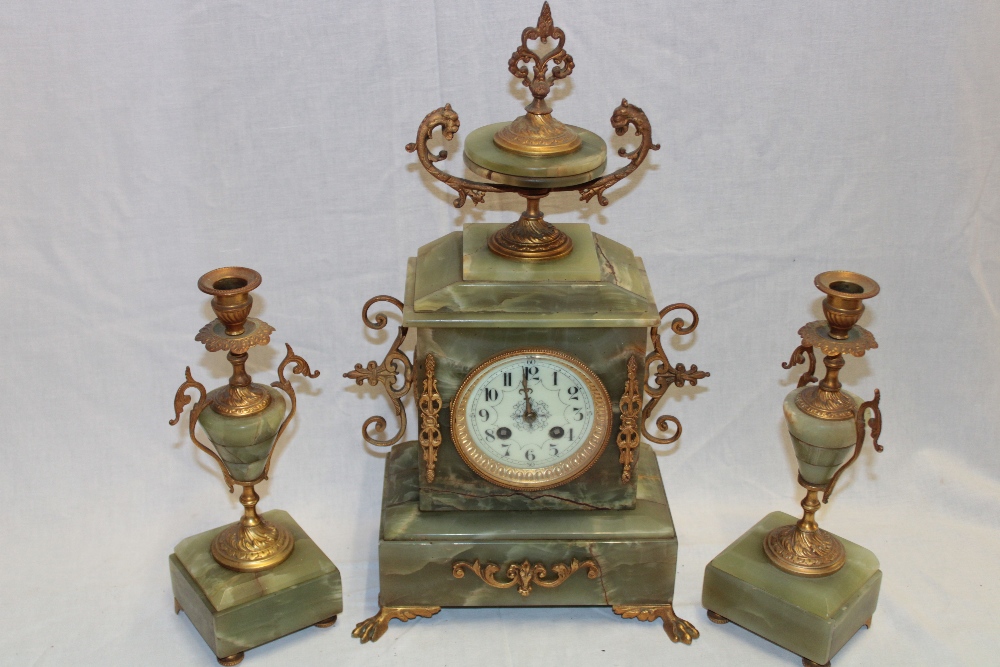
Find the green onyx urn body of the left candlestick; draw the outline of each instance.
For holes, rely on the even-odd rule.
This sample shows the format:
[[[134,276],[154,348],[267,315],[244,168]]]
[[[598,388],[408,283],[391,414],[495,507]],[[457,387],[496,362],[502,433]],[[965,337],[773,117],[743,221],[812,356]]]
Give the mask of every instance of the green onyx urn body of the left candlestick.
[[[271,395],[271,403],[255,415],[230,417],[208,407],[198,417],[215,451],[226,462],[229,474],[239,482],[255,480],[264,472],[274,436],[285,418],[284,395],[274,387],[265,388]],[[209,400],[221,389],[210,391]]]

